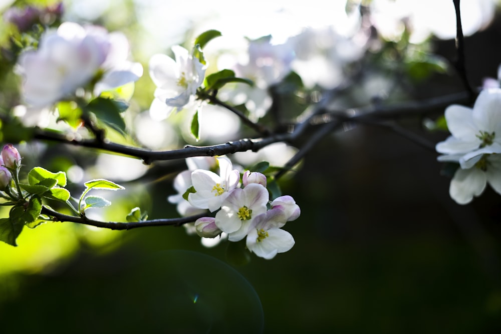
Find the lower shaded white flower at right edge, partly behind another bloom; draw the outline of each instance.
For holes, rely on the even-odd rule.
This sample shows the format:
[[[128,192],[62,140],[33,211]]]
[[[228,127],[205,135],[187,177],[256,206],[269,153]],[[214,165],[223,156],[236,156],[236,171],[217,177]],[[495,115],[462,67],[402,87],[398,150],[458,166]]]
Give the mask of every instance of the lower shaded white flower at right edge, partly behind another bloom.
[[[458,204],[479,196],[486,184],[501,194],[501,154],[485,154],[471,168],[459,168],[450,182],[449,194]]]

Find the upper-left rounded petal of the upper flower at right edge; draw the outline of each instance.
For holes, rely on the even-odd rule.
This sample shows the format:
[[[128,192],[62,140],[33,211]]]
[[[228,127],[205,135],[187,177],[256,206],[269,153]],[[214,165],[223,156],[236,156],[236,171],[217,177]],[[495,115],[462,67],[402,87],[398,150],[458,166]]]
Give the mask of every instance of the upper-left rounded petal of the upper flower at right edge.
[[[447,128],[452,136],[464,141],[474,140],[478,129],[473,124],[472,110],[459,105],[445,109]]]

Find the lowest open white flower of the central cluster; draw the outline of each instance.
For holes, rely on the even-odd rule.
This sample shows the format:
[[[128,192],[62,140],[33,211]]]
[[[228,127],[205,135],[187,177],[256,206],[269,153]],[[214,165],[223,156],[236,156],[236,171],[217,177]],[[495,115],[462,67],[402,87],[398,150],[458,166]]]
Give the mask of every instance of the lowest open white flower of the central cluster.
[[[260,257],[272,259],[277,253],[283,253],[294,246],[292,235],[277,227],[277,212],[269,210],[254,219],[247,234],[247,248]]]

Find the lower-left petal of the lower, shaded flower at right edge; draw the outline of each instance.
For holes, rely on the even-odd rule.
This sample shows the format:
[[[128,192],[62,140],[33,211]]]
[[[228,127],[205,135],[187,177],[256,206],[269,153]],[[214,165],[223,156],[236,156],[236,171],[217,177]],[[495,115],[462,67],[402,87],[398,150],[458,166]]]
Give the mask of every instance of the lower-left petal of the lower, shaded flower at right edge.
[[[450,182],[450,197],[458,204],[468,204],[485,189],[486,175],[478,168],[458,169]]]

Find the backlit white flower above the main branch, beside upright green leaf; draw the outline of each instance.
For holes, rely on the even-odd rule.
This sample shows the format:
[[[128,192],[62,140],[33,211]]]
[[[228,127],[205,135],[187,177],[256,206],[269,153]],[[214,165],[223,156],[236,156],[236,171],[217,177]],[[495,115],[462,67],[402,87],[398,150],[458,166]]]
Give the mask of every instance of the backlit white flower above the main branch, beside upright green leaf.
[[[194,102],[196,90],[203,83],[205,66],[181,46],[173,46],[175,61],[156,54],[149,62],[149,73],[157,86],[150,113],[156,119],[166,118],[173,110],[181,110]],[[153,117],[153,116],[152,116]]]

